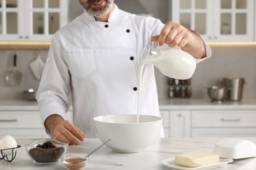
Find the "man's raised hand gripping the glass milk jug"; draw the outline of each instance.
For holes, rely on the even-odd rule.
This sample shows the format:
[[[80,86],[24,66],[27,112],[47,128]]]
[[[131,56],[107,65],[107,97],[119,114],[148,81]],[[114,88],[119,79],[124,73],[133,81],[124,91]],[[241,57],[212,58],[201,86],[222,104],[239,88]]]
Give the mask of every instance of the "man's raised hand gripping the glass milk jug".
[[[169,47],[179,46],[194,58],[206,56],[205,46],[200,35],[173,21],[167,22],[160,35],[153,36],[151,41],[159,42],[160,46],[163,44],[167,44]]]

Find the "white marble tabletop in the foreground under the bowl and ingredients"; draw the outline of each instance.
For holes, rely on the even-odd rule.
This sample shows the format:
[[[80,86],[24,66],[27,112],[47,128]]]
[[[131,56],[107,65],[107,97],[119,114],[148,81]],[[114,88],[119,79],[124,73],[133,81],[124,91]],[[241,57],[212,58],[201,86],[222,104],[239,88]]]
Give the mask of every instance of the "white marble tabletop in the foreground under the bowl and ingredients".
[[[247,138],[256,143],[256,138]],[[102,146],[90,157],[90,161],[85,169],[145,169],[161,170],[168,168],[161,164],[161,160],[172,158],[176,154],[196,150],[212,152],[213,146],[218,138],[211,139],[157,139],[155,143],[146,148],[143,152],[133,154],[121,154],[112,152],[110,148]],[[26,153],[24,144],[30,143],[34,139],[18,139],[17,143],[22,147],[18,148],[16,158],[11,162],[0,160],[0,169],[5,170],[32,170],[32,169],[65,169],[61,162],[51,166],[37,166],[32,163]],[[90,152],[102,144],[98,139],[86,139],[79,145],[68,146],[67,152]],[[256,158],[246,158],[228,163],[218,170],[255,170]]]

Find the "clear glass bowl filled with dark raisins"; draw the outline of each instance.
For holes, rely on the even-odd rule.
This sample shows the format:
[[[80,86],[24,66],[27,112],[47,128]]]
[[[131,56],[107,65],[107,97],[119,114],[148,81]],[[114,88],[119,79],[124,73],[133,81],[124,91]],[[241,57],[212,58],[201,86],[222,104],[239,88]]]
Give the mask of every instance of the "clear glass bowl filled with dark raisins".
[[[61,143],[53,139],[39,139],[25,144],[28,156],[36,165],[52,165],[66,153],[68,143]]]

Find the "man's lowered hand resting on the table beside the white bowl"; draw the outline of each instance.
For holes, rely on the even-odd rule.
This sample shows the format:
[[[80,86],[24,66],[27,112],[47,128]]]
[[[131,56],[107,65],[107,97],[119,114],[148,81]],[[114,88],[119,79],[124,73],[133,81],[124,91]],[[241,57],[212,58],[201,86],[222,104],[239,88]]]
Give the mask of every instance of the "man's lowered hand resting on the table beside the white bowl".
[[[49,129],[52,139],[68,144],[79,144],[85,139],[83,132],[58,114],[53,114],[45,120],[45,126]]]

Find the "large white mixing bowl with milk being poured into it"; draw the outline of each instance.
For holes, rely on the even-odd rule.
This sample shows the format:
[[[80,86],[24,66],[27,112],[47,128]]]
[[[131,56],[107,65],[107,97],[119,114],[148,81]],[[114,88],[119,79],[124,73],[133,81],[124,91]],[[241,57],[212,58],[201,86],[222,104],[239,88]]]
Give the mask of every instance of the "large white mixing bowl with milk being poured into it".
[[[96,132],[102,143],[114,152],[141,152],[158,137],[162,118],[137,114],[119,114],[94,118]]]

